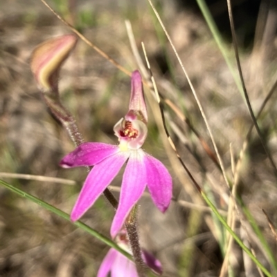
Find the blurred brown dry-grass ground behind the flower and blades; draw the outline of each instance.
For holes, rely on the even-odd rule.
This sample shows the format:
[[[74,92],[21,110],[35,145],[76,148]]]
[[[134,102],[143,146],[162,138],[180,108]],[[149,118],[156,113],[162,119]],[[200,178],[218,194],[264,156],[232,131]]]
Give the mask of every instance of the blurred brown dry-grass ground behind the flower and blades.
[[[226,1],[206,2],[236,70]],[[232,163],[239,161],[251,126],[242,93],[197,1],[153,3],[188,70],[211,124],[226,173],[233,182]],[[232,3],[242,70],[253,111],[258,113],[277,77],[276,1],[234,0]],[[132,71],[138,66],[125,28],[125,20],[130,21],[142,57],[141,41],[145,43],[161,95],[186,117],[181,120],[170,106],[163,105],[177,150],[202,189],[226,216],[231,201],[229,189],[216,159],[211,159],[215,155],[208,155],[201,143],[205,142],[214,152],[211,138],[148,1],[48,0],[48,4],[96,46]],[[49,113],[29,65],[37,44],[66,33],[71,30],[41,1],[0,0],[0,178],[70,213],[87,171],[60,168],[61,158],[73,151],[74,146]],[[129,92],[130,78],[83,41],[78,42],[60,73],[62,103],[75,116],[87,142],[117,143],[113,126],[127,112]],[[275,102],[273,94],[261,113],[259,125],[277,161]],[[164,215],[149,197],[140,200],[139,234],[143,247],[161,260],[166,277],[260,276],[238,245],[234,243],[226,250],[227,236],[222,225],[207,209],[168,147],[164,132],[157,126],[159,111],[151,96],[148,111],[149,135],[143,148],[166,164],[172,174],[174,200]],[[276,238],[262,209],[277,226],[277,175],[255,130],[235,173],[238,174],[235,195],[243,214],[233,216],[234,231],[248,247],[255,249],[262,264],[276,273],[272,259],[277,254]],[[117,198],[116,187],[120,186],[121,179],[122,173],[112,182],[111,191]],[[110,204],[101,197],[82,220],[109,236],[113,216]],[[102,242],[70,222],[0,186],[1,277],[96,276],[107,251]],[[222,273],[227,254],[232,270]]]

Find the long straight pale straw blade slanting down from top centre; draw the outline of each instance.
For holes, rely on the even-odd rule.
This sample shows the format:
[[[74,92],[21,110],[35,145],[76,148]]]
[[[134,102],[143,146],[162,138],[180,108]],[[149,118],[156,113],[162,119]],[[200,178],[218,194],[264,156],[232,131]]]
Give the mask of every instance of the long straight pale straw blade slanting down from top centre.
[[[225,171],[225,168],[224,168],[224,164],[223,164],[222,158],[221,158],[220,153],[219,153],[219,151],[217,149],[217,145],[215,143],[215,138],[213,137],[213,133],[211,131],[210,124],[208,124],[208,120],[207,120],[206,114],[204,113],[204,109],[202,107],[201,102],[199,101],[199,98],[197,96],[195,88],[194,88],[192,82],[190,81],[190,78],[188,77],[188,73],[186,72],[184,64],[182,63],[181,58],[179,57],[179,54],[178,54],[174,44],[172,43],[172,39],[170,38],[170,35],[168,34],[168,31],[166,30],[166,27],[163,25],[163,21],[161,21],[161,17],[159,16],[159,13],[157,12],[156,8],[154,7],[152,1],[148,0],[148,2],[150,3],[150,6],[152,7],[152,10],[154,11],[154,14],[156,15],[157,19],[159,20],[159,23],[160,23],[161,27],[163,28],[163,32],[166,34],[166,37],[168,38],[168,41],[170,42],[170,46],[172,47],[172,50],[175,53],[175,55],[176,55],[176,57],[177,57],[177,59],[179,61],[181,69],[183,70],[184,74],[186,75],[186,79],[188,80],[188,84],[190,86],[190,89],[193,92],[193,96],[195,97],[195,100],[197,102],[197,106],[199,108],[199,111],[200,111],[200,113],[201,113],[201,115],[203,117],[203,120],[205,122],[206,128],[208,130],[208,133],[209,133],[209,135],[211,137],[211,140],[213,142],[213,147],[215,148],[215,153],[217,155],[217,159],[220,162],[220,169],[222,171],[222,175],[223,175],[224,181],[226,182],[227,187],[230,188],[230,184],[229,184],[229,181],[228,181],[228,178],[227,178],[227,175],[226,175],[226,171]]]

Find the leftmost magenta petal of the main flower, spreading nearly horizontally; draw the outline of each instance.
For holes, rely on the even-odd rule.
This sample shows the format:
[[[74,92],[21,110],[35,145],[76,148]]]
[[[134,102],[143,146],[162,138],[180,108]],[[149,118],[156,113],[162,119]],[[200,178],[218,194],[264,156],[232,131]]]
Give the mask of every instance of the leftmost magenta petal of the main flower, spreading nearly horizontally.
[[[85,142],[66,155],[60,162],[60,165],[64,168],[93,166],[104,160],[106,157],[114,155],[118,151],[119,149],[116,145]]]

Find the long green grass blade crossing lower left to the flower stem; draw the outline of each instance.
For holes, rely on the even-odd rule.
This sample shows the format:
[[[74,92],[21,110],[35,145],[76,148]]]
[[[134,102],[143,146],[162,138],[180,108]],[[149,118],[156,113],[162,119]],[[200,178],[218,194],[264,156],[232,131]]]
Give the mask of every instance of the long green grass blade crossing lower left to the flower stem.
[[[20,195],[21,197],[24,197],[32,202],[35,202],[36,204],[43,207],[44,209],[47,209],[48,211],[55,213],[57,216],[60,216],[61,218],[64,218],[65,220],[71,222],[70,216],[68,213],[64,213],[64,211],[61,211],[60,209],[53,207],[51,204],[48,204],[48,203],[44,202],[43,200],[40,200],[39,198],[36,198],[33,195],[30,195],[29,193],[21,191],[21,189],[17,189],[16,187],[13,187],[11,184],[8,184],[7,182],[5,182],[3,180],[0,180],[0,184],[3,185],[3,187],[6,187],[6,189],[9,189],[10,191],[12,191],[13,193],[17,193],[17,195]],[[98,233],[98,231],[92,229],[88,225],[85,225],[84,223],[80,222],[79,220],[76,222],[71,222],[71,223],[73,225],[79,227],[80,229],[86,231],[87,233],[91,234],[91,236],[97,238],[101,242],[104,242],[109,247],[113,247],[118,252],[123,254],[125,257],[132,260],[132,256],[130,254],[128,254],[122,248],[118,247],[118,245],[114,241],[110,240],[106,236],[103,236],[101,233]]]

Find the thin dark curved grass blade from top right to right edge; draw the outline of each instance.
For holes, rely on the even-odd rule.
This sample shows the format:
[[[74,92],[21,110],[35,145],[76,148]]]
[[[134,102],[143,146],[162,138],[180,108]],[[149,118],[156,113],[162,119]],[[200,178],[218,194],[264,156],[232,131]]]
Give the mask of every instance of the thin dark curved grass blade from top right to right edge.
[[[247,101],[247,108],[249,109],[251,119],[252,119],[253,124],[256,128],[258,136],[260,137],[260,142],[262,144],[262,147],[265,150],[265,153],[267,154],[267,157],[269,158],[269,162],[271,163],[271,166],[273,167],[275,173],[277,173],[276,164],[274,163],[274,160],[271,156],[271,153],[267,149],[267,145],[264,141],[264,138],[262,137],[262,132],[260,131],[260,127],[258,126],[256,117],[253,113],[253,109],[252,109],[252,106],[251,106],[251,103],[250,103],[250,100],[249,100],[249,97],[248,97],[247,88],[245,86],[244,77],[242,75],[242,67],[240,65],[240,56],[238,55],[238,42],[237,42],[237,38],[236,38],[236,35],[235,35],[235,26],[234,26],[234,23],[233,23],[233,12],[232,12],[232,8],[231,8],[231,1],[230,0],[227,0],[227,5],[228,5],[228,12],[229,12],[230,25],[231,25],[232,38],[233,38],[233,46],[234,46],[234,50],[235,50],[235,60],[237,61],[238,72],[239,72],[239,75],[240,75],[240,82],[242,83],[242,89],[243,89],[244,97]]]

